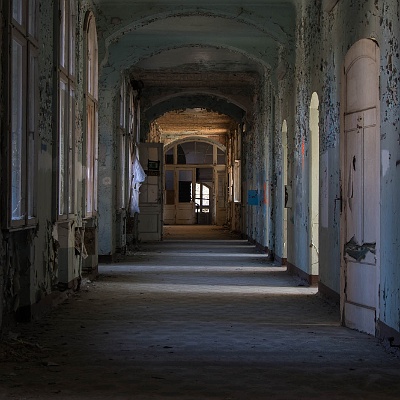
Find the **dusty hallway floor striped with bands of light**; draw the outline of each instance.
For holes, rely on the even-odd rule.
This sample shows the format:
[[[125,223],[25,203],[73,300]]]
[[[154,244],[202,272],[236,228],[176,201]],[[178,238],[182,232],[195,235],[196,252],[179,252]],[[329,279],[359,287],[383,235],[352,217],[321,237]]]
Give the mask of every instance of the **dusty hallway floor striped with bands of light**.
[[[0,399],[400,398],[399,358],[315,289],[229,232],[177,229],[19,326]]]

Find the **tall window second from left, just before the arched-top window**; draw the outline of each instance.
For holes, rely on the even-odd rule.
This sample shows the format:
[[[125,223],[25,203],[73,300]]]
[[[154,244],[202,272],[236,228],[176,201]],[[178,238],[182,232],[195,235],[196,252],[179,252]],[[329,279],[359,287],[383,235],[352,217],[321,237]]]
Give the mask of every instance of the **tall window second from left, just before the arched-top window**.
[[[60,0],[58,219],[75,213],[75,2]]]

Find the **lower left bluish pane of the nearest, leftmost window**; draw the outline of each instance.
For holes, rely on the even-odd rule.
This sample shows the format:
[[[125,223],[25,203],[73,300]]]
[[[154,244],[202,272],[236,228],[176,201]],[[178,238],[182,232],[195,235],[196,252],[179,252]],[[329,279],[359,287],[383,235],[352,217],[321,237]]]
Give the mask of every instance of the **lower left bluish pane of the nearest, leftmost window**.
[[[12,43],[11,87],[11,218],[23,219],[23,46]]]

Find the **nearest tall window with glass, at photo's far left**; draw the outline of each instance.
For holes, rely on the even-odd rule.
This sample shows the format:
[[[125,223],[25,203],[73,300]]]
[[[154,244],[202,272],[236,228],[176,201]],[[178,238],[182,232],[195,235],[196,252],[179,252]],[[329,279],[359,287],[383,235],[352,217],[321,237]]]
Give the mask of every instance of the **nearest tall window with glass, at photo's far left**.
[[[9,225],[36,222],[38,3],[13,0],[10,15]]]

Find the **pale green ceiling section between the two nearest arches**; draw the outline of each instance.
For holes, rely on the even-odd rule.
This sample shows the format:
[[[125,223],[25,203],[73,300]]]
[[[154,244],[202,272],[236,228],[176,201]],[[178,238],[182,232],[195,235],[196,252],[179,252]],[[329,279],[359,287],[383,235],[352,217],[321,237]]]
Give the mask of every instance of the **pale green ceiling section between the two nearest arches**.
[[[131,22],[108,36],[103,45],[100,78],[112,85],[121,71],[146,64],[146,60],[147,65],[149,60],[153,61],[152,68],[166,65],[168,56],[177,52],[186,53],[186,57],[174,58],[175,67],[179,67],[177,60],[191,55],[194,64],[205,70],[216,65],[219,68],[235,65],[243,71],[254,69],[255,65],[276,68],[281,47],[288,45],[288,36],[282,29],[276,29],[272,35],[243,18],[196,12],[171,14],[166,18],[156,15],[145,22]],[[236,63],[238,60],[240,63]]]

